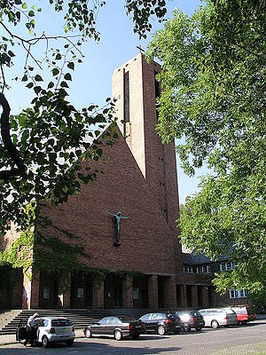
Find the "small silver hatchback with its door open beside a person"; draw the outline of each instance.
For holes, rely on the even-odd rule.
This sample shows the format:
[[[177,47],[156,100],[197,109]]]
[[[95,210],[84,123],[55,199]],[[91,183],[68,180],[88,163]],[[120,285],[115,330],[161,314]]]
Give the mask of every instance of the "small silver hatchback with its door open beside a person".
[[[17,328],[16,340],[26,338],[27,326]],[[42,343],[47,348],[50,343],[66,343],[71,346],[74,343],[74,326],[70,320],[64,317],[43,317],[35,319],[34,343]]]

